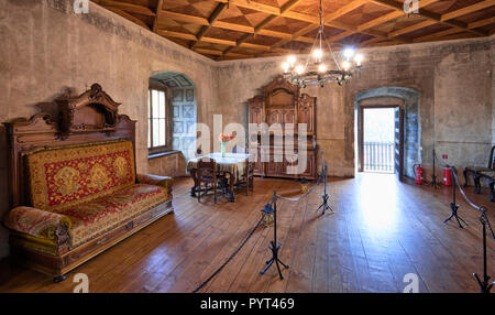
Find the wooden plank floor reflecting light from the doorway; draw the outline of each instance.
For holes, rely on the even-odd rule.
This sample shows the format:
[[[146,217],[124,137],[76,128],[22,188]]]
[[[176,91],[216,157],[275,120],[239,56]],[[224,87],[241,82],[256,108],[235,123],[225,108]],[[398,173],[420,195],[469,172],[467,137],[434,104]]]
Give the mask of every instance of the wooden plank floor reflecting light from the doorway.
[[[174,187],[168,215],[69,273],[62,283],[0,263],[0,292],[72,292],[76,273],[86,273],[90,292],[190,292],[235,250],[261,217],[273,189],[295,196],[294,181],[256,178],[255,193],[237,203],[189,197],[189,178]],[[472,191],[472,188],[469,188]],[[332,180],[334,214],[321,216],[320,187],[308,198],[278,204],[280,258],[290,265],[260,274],[270,258],[272,228],[260,228],[239,254],[201,292],[402,292],[406,273],[419,276],[420,292],[477,292],[481,225],[462,200],[459,229],[442,221],[450,214],[450,189],[398,183],[393,175],[361,174]],[[470,196],[494,208],[487,192]],[[495,224],[495,216],[490,214]],[[488,239],[488,269],[495,276],[495,241]]]

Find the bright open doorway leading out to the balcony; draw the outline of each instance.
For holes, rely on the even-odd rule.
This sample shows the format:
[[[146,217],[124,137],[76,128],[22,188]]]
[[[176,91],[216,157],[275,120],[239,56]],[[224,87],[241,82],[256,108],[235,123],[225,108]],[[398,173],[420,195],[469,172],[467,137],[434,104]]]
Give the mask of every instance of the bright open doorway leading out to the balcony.
[[[398,105],[360,106],[359,171],[396,174],[404,170],[404,110]]]

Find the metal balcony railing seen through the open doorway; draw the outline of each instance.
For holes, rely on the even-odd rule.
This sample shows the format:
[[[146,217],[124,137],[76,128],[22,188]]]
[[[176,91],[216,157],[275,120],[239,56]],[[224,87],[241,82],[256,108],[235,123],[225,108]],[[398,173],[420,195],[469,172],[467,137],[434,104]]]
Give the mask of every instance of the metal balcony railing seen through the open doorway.
[[[364,142],[364,172],[394,172],[394,142]]]

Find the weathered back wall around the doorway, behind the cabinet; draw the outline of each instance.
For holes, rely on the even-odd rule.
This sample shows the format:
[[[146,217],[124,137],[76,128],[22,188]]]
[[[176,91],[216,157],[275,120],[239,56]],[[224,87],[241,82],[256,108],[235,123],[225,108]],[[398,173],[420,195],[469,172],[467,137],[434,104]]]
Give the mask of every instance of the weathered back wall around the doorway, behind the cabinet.
[[[424,163],[429,178],[433,145],[439,156],[448,154],[447,163],[458,167],[486,164],[495,142],[493,50],[494,36],[367,48],[362,51],[366,59],[360,79],[343,87],[306,88],[305,93],[318,98],[317,138],[329,172],[354,175],[356,96],[387,87],[419,93],[419,154],[408,164]],[[282,62],[282,57],[271,57],[218,63],[218,95],[224,123],[246,124],[246,100],[261,94],[258,88],[280,74]]]

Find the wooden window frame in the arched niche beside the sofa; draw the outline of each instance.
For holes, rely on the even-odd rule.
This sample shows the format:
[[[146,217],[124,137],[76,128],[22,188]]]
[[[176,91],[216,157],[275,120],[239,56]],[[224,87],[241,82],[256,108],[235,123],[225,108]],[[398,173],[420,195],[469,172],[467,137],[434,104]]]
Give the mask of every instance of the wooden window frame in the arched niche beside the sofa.
[[[160,90],[165,93],[165,145],[153,146],[153,99],[151,96],[152,90]],[[147,115],[147,132],[150,133],[150,144],[147,148],[148,154],[157,154],[163,152],[172,151],[172,101],[170,101],[170,90],[167,87],[157,86],[150,84],[147,90],[148,98],[148,115]]]

